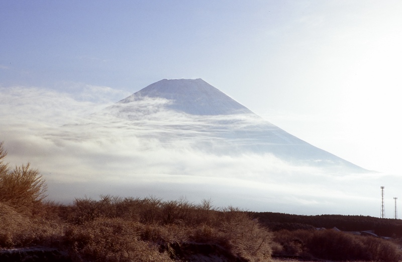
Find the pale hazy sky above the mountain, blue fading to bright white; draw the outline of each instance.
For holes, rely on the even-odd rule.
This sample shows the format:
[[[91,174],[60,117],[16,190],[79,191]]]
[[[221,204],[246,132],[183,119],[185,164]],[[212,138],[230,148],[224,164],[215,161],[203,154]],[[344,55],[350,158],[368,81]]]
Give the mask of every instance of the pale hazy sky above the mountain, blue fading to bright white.
[[[62,125],[160,79],[203,78],[399,178],[400,14],[400,1],[0,1],[0,132],[11,118]],[[397,197],[398,185],[377,186],[373,197],[380,186]]]

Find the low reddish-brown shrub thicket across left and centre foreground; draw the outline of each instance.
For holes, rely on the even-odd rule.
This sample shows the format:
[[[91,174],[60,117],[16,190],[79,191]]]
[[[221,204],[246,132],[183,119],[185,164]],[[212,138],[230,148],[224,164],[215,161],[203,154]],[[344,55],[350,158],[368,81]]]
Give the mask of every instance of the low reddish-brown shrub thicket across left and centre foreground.
[[[171,261],[184,259],[173,246],[206,243],[250,261],[269,260],[271,233],[246,212],[229,207],[206,215],[205,209],[186,201],[155,200],[76,199],[70,206],[45,202],[34,215],[2,204],[0,246],[58,247],[73,261]],[[133,214],[130,204],[140,215]],[[151,220],[144,220],[144,214],[153,214]]]

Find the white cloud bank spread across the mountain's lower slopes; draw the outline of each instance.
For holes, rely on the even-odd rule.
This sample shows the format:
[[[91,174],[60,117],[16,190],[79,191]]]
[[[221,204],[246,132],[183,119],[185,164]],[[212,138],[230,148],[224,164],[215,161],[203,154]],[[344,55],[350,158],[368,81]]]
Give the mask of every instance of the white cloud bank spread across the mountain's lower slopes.
[[[199,124],[204,117],[188,119],[159,108],[154,121],[147,119],[133,125],[100,114],[102,125],[98,118],[91,117],[92,122],[83,125],[83,119],[88,119],[84,116],[102,104],[40,88],[1,91],[0,121],[7,124],[0,127],[0,140],[5,141],[8,160],[12,164],[30,161],[38,167],[48,181],[50,197],[59,201],[100,194],[164,198],[185,195],[191,201],[213,198],[219,205],[299,214],[327,210],[353,214],[354,205],[364,201],[361,214],[375,215],[367,206],[376,205],[372,196],[377,193],[381,176],[371,174],[370,180],[362,182],[363,175],[340,177],[270,154],[211,154],[194,148],[193,131],[181,129],[180,134],[173,135],[176,129],[169,129]],[[168,121],[167,128],[161,119]],[[245,119],[228,120],[227,116],[213,117],[209,123],[224,120],[234,121],[239,128],[253,124]],[[149,135],[161,127],[168,142]],[[186,135],[188,139],[182,139]],[[356,189],[356,183],[360,189]]]

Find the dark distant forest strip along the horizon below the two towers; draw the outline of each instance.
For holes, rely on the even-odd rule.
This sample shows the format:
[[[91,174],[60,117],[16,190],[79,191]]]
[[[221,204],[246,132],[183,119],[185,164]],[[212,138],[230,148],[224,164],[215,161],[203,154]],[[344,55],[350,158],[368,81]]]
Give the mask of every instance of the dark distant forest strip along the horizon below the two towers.
[[[250,212],[252,217],[273,231],[337,227],[342,231],[374,230],[380,236],[402,237],[402,220],[350,215],[290,215],[272,212]]]

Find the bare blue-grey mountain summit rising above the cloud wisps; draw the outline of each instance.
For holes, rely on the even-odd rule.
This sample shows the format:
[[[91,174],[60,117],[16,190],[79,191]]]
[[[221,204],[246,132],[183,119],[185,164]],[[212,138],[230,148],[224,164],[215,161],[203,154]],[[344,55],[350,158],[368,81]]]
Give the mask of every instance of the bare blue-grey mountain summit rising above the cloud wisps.
[[[143,98],[164,98],[172,101],[170,109],[191,115],[251,114],[252,112],[214,88],[201,78],[162,79],[148,85],[119,103]]]

